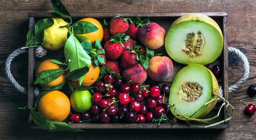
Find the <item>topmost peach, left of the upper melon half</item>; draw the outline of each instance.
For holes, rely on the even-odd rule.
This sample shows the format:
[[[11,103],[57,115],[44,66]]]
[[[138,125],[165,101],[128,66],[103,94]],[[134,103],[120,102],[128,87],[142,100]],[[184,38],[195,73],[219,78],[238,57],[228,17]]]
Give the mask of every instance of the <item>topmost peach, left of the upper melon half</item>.
[[[149,23],[139,29],[138,37],[147,48],[158,49],[164,45],[165,30],[156,23]]]

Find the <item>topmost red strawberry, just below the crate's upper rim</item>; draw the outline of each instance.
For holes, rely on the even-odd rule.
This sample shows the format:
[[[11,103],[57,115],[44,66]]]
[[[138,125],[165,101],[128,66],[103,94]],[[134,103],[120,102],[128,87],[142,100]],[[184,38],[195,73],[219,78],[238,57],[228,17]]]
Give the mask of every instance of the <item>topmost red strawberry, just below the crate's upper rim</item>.
[[[112,35],[124,33],[128,30],[128,28],[129,28],[128,18],[116,16],[110,20],[110,33]]]

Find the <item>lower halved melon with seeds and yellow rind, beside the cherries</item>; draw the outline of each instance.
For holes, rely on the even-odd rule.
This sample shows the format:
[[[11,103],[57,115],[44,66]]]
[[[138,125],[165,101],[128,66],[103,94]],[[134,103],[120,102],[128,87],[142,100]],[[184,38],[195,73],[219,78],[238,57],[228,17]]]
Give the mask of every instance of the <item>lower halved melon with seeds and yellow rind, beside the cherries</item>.
[[[219,94],[219,85],[212,72],[200,64],[190,64],[181,69],[173,80],[169,104],[174,116],[180,120],[187,120],[178,114],[200,118],[214,108],[217,98],[214,94]]]

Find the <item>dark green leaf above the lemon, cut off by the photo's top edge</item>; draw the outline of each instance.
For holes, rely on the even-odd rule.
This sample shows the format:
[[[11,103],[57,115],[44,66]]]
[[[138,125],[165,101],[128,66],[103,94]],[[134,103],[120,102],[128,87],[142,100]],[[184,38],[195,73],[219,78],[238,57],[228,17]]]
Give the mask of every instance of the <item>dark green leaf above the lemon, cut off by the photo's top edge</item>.
[[[65,6],[59,0],[51,0],[51,8],[53,12],[59,14],[62,17],[70,18],[70,13],[66,10]]]

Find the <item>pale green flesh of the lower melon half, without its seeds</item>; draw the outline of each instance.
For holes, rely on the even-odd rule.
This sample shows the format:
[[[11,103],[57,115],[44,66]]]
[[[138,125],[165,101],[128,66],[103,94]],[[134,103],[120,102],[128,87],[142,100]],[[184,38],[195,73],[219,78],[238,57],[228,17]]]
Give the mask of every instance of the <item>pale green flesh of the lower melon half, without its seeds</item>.
[[[200,97],[195,101],[185,101],[182,99],[182,94],[179,90],[181,85],[186,82],[198,83],[203,90],[201,91]],[[205,112],[209,112],[207,105],[204,105],[206,102],[212,99],[213,92],[213,81],[210,71],[206,67],[200,64],[191,64],[183,69],[181,69],[176,77],[173,80],[169,104],[171,105],[170,109],[174,116],[177,114],[182,114],[187,117],[198,118],[202,115],[205,115]],[[213,106],[214,107],[214,106]],[[186,120],[185,118],[179,118],[180,120]]]

